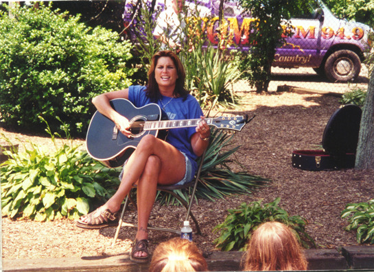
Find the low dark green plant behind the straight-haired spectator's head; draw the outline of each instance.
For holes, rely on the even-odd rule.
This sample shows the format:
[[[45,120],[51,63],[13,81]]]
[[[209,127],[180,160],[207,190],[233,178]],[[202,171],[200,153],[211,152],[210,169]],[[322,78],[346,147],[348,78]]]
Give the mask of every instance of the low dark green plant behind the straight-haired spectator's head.
[[[249,205],[242,203],[239,208],[228,210],[229,215],[223,223],[214,227],[214,232],[220,232],[220,236],[214,241],[216,247],[223,251],[237,249],[244,251],[246,241],[250,239],[252,232],[261,223],[267,221],[279,221],[288,225],[301,242],[303,247],[309,248],[309,243],[316,246],[314,240],[305,232],[306,220],[303,217],[290,217],[288,213],[281,209],[278,204],[281,199],[278,197],[270,203],[261,204],[255,201]]]

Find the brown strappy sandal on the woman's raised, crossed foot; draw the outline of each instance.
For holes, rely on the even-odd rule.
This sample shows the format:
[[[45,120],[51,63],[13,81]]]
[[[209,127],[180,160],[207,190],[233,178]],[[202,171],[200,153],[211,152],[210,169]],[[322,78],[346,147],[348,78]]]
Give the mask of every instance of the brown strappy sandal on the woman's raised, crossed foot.
[[[86,222],[82,221],[83,218],[88,218]],[[75,223],[77,227],[82,227],[84,229],[102,229],[104,227],[115,227],[118,225],[119,212],[110,212],[109,209],[99,212],[99,208],[93,212],[80,217],[80,219]]]

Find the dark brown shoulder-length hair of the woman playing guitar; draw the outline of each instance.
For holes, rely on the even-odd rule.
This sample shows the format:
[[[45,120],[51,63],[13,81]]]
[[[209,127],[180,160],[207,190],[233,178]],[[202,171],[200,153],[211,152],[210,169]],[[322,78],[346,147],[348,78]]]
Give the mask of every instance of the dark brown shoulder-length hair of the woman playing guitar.
[[[169,57],[174,62],[176,66],[176,73],[178,78],[176,79],[176,86],[174,90],[174,95],[176,97],[187,97],[188,91],[185,89],[185,68],[183,67],[182,62],[178,58],[178,55],[170,50],[159,51],[152,56],[152,61],[150,69],[148,70],[148,86],[147,86],[147,95],[153,101],[156,101],[160,97],[159,85],[156,82],[154,77],[154,69],[156,69],[157,62],[161,57]]]

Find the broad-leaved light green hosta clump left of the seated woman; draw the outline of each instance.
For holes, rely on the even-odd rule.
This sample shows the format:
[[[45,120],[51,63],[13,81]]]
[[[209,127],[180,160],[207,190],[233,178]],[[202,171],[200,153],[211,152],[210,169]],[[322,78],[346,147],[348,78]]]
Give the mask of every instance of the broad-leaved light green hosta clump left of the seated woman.
[[[24,153],[8,151],[1,175],[1,212],[12,219],[78,219],[92,204],[105,202],[119,183],[118,173],[93,161],[78,145],[56,145],[46,154],[33,143]],[[9,140],[8,140],[9,142]]]

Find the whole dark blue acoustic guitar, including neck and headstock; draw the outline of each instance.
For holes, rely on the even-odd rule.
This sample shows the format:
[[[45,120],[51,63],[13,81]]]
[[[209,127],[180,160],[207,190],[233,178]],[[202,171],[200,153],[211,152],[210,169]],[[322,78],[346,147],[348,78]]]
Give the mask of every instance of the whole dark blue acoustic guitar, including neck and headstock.
[[[110,105],[116,112],[126,116],[129,120],[130,138],[119,132],[115,123],[98,111],[93,114],[86,135],[86,149],[89,155],[110,168],[124,164],[135,151],[143,136],[152,134],[163,138],[160,137],[159,130],[196,127],[201,121],[201,119],[164,120],[166,114],[156,103],[137,108],[127,99],[119,98],[111,100]],[[250,121],[248,116],[220,116],[204,120],[208,125],[214,125],[218,129],[235,131],[242,130],[244,125]]]

